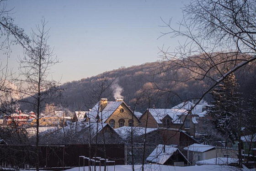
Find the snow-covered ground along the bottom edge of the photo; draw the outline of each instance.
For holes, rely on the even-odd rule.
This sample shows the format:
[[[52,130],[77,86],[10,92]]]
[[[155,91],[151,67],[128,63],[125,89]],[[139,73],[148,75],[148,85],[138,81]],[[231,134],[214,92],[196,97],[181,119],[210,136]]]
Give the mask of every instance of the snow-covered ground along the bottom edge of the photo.
[[[79,167],[75,167],[66,171],[79,171]],[[83,171],[83,167],[80,167],[80,171]],[[85,171],[88,171],[88,166],[85,166]],[[99,171],[99,167],[96,168]],[[104,171],[104,167],[101,167],[101,171]],[[114,166],[108,166],[108,171],[114,171]],[[115,171],[132,171],[131,165],[117,165]],[[135,165],[135,171],[141,171],[141,165]],[[239,170],[232,166],[164,166],[164,165],[144,165],[144,171],[251,171],[249,169]]]

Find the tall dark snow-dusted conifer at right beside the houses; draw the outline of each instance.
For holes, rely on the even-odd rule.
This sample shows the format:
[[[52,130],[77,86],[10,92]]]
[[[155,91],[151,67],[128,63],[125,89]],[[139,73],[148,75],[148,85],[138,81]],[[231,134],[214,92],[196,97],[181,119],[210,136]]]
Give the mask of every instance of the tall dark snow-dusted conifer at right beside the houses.
[[[229,69],[224,73],[228,71]],[[238,127],[241,126],[243,115],[243,98],[238,88],[234,73],[229,74],[223,83],[218,84],[211,92],[214,101],[207,112],[212,116],[212,123],[218,132],[232,142],[238,140]]]

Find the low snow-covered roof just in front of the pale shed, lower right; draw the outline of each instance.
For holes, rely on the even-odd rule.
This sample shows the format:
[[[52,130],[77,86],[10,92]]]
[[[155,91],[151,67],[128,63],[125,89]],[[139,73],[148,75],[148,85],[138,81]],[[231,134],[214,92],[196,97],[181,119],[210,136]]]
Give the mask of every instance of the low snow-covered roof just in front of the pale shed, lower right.
[[[228,165],[231,163],[238,163],[239,159],[227,158],[227,157],[217,157],[217,165]],[[197,165],[216,165],[216,158],[208,159],[204,161],[197,161]]]

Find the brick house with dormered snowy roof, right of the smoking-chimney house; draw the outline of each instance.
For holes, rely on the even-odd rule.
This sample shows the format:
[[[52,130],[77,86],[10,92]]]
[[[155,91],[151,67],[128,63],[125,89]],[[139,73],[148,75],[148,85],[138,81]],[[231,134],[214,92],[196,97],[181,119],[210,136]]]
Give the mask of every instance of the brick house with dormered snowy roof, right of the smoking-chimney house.
[[[198,121],[203,121],[206,105],[195,106],[192,102],[182,102],[171,109],[147,109],[139,118],[141,127],[181,129],[194,136],[197,133]],[[191,110],[192,109],[192,110]],[[146,122],[147,121],[147,122]],[[200,122],[202,125],[203,122]]]

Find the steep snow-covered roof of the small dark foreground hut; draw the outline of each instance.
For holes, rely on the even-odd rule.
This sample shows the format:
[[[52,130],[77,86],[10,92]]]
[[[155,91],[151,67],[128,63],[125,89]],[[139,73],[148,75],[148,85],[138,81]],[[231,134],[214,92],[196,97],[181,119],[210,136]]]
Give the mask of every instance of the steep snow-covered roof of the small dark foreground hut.
[[[157,145],[155,150],[148,156],[147,161],[163,165],[177,150],[181,153],[181,151],[175,147],[161,144]],[[183,154],[181,153],[181,155]],[[184,156],[184,158],[186,157]]]

